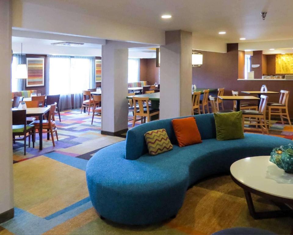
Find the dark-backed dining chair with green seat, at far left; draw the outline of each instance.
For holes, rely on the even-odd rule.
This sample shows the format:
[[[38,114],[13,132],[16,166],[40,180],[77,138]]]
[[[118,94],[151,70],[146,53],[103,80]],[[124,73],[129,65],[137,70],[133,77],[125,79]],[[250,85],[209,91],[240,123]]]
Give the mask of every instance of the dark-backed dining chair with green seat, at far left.
[[[24,141],[24,155],[26,155],[27,150],[27,138],[28,138],[28,147],[31,147],[31,138],[33,142],[34,148],[34,141],[35,141],[35,129],[34,125],[27,125],[26,120],[26,109],[22,110],[13,110],[12,111],[12,139],[13,143],[15,141]],[[16,138],[16,136],[23,136]]]

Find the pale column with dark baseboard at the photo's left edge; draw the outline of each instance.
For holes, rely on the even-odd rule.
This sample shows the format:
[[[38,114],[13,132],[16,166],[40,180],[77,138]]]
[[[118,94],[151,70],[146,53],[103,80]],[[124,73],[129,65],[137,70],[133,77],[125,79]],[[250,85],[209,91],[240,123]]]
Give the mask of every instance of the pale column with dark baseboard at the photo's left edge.
[[[13,217],[10,0],[0,1],[0,223]]]

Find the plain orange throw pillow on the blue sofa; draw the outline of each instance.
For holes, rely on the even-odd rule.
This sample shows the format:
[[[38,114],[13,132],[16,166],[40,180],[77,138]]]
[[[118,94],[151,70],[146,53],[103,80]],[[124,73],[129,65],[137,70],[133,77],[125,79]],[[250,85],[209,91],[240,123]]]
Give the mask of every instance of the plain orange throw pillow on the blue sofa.
[[[179,147],[202,143],[194,117],[173,119],[172,125]]]

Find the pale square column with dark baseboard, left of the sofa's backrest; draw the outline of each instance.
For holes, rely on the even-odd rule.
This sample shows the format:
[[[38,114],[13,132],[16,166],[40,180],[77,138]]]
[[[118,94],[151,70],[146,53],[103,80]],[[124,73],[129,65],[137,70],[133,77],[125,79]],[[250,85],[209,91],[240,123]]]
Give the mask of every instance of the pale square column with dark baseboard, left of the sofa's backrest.
[[[128,47],[106,40],[102,46],[102,134],[128,130]]]

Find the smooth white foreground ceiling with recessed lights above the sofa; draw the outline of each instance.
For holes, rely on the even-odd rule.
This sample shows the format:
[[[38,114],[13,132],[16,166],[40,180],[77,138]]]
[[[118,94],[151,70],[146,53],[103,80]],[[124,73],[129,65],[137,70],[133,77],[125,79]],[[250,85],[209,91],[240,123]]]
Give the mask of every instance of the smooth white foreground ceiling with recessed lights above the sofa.
[[[227,43],[293,39],[292,0],[23,0],[123,23],[187,30]],[[267,11],[266,20],[261,11]],[[171,19],[161,19],[162,14]],[[226,31],[226,35],[218,35]]]

